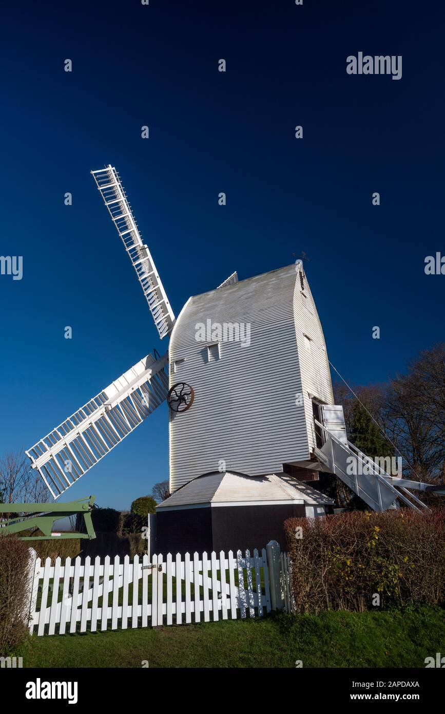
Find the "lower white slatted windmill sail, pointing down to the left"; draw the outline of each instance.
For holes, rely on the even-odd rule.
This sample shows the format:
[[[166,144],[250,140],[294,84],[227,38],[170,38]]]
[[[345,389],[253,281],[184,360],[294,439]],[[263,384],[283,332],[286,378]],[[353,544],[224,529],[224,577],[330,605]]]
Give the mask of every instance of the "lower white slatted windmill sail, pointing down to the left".
[[[121,443],[167,396],[168,353],[148,355],[32,446],[31,459],[58,498]]]

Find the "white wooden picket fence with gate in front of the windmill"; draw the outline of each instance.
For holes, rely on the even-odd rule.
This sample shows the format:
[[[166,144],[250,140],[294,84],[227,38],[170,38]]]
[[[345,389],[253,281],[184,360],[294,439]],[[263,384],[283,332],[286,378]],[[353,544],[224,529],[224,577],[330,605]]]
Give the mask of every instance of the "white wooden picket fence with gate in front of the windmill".
[[[111,628],[180,625],[227,618],[262,617],[276,600],[290,601],[277,573],[287,560],[277,543],[261,554],[232,550],[219,555],[107,555],[95,560],[36,558],[32,582],[30,631],[63,635]],[[268,564],[268,557],[269,564]],[[280,560],[281,558],[281,560]],[[287,555],[286,555],[287,558]],[[274,560],[275,559],[275,560]],[[271,583],[272,573],[272,603]],[[274,575],[275,573],[275,575]],[[279,593],[277,595],[277,587]]]

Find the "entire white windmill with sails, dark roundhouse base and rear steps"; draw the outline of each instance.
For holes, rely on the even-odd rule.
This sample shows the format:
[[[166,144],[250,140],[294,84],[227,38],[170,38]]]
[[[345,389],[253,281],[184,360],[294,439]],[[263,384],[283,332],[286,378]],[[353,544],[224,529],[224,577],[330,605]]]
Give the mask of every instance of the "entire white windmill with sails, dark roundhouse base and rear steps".
[[[282,540],[285,518],[322,515],[332,504],[303,483],[317,471],[337,474],[375,511],[396,499],[424,506],[406,488],[431,487],[389,476],[347,441],[302,261],[243,281],[233,273],[188,298],[175,319],[118,172],[108,165],[91,173],[170,343],[26,451],[52,496],[167,400],[173,495],[158,506],[159,552]]]

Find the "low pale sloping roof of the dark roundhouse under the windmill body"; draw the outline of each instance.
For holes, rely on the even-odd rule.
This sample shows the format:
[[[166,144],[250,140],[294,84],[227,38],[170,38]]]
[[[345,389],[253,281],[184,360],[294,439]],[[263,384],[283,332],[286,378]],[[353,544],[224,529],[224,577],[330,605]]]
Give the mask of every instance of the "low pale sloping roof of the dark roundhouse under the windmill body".
[[[269,476],[246,476],[234,471],[215,471],[188,481],[156,508],[178,508],[203,503],[264,503],[286,501],[306,506],[332,504],[332,498],[315,491],[285,473]]]

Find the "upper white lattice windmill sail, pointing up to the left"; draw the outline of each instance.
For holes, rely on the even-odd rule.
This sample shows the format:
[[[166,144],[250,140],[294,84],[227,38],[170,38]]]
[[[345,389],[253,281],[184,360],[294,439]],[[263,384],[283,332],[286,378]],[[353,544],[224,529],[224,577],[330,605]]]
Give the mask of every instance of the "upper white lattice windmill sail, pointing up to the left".
[[[106,169],[91,171],[123,245],[130,256],[138,281],[148,302],[155,326],[162,339],[170,334],[175,316],[160,281],[148,246],[143,243],[135,218],[123,189],[121,178],[111,164]]]

